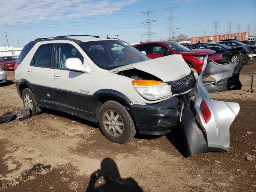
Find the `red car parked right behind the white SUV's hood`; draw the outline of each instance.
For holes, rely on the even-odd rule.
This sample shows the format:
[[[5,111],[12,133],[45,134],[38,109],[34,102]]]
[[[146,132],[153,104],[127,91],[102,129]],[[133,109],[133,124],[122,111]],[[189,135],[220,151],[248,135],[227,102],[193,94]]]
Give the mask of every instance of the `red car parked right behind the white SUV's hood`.
[[[204,57],[209,58],[215,62],[222,59],[222,54],[216,54],[215,51],[209,49],[193,49],[190,50],[185,46],[171,41],[157,41],[146,42],[133,45],[139,51],[145,51],[147,56],[151,59],[163,57],[171,54],[180,54],[186,63],[196,69],[197,72],[202,72],[204,64]]]

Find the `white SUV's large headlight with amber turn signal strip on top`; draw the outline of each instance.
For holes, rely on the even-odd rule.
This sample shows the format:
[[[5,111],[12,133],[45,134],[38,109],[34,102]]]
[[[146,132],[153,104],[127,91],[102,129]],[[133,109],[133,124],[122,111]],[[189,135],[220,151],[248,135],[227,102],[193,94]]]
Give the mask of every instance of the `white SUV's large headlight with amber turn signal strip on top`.
[[[154,80],[133,80],[136,91],[148,100],[157,100],[172,96],[171,86]]]

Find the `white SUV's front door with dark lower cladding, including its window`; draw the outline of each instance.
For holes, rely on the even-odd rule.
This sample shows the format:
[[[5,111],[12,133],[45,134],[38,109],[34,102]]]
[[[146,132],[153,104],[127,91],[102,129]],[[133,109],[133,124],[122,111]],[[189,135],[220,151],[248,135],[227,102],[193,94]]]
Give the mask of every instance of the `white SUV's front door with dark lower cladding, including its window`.
[[[68,58],[79,58],[83,64],[85,54],[76,43],[57,43],[53,69],[54,90],[58,109],[85,118],[92,118],[92,73],[72,71],[65,67]]]

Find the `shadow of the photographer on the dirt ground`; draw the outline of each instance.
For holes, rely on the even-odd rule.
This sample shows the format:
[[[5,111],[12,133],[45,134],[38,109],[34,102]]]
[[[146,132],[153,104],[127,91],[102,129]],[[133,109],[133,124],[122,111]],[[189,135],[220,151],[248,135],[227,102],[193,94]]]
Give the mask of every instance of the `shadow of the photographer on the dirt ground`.
[[[104,181],[99,184],[98,179]],[[96,183],[97,182],[97,183]],[[116,163],[111,158],[104,158],[101,169],[93,172],[86,192],[143,192],[142,188],[133,178],[121,178]]]

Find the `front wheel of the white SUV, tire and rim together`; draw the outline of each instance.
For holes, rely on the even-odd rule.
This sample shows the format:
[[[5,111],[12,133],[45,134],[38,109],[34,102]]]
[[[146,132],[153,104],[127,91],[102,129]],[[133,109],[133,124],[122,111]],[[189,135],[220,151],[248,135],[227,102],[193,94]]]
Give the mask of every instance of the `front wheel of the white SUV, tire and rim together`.
[[[124,106],[116,101],[107,101],[102,104],[98,119],[102,133],[110,141],[126,143],[136,134],[132,117]]]

